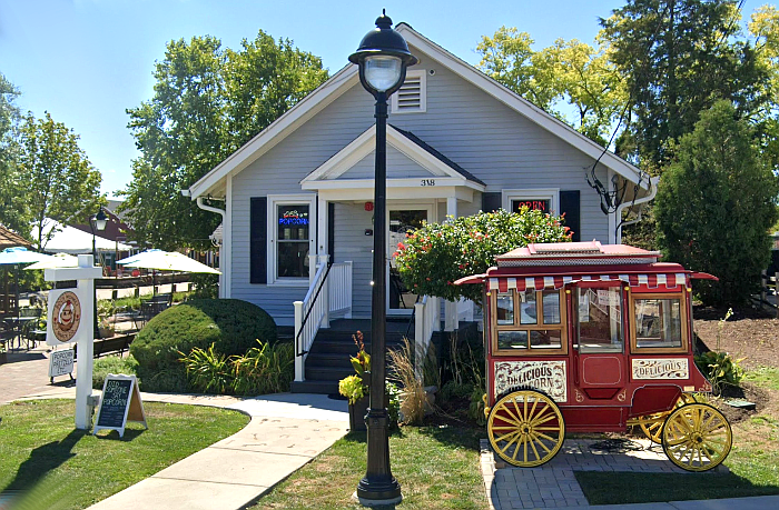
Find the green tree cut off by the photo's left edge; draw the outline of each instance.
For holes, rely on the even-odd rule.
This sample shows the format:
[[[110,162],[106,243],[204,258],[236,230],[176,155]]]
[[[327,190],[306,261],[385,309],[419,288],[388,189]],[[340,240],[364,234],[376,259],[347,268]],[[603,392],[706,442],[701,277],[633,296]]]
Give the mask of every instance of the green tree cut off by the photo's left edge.
[[[16,129],[19,109],[14,104],[19,90],[0,74],[0,223],[29,237],[29,207],[24,200],[27,184],[20,180]]]

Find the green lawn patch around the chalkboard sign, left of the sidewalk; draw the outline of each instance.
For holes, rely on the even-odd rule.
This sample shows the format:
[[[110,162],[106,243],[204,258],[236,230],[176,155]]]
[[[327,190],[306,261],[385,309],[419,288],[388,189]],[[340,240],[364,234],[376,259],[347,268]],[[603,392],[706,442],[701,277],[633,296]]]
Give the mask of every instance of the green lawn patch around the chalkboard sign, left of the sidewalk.
[[[148,430],[125,437],[73,429],[72,400],[0,406],[0,491],[19,491],[14,508],[82,509],[244,428],[236,411],[145,402]]]

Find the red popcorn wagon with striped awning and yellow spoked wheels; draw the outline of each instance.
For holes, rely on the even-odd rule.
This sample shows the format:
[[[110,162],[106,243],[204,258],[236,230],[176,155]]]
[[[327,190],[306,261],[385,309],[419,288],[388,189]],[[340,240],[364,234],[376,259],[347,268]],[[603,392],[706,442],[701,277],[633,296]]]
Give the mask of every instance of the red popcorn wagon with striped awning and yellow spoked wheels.
[[[624,244],[530,244],[496,258],[484,283],[487,434],[519,467],[551,460],[565,432],[640,427],[680,468],[704,471],[732,433],[693,392],[693,278],[716,280]]]

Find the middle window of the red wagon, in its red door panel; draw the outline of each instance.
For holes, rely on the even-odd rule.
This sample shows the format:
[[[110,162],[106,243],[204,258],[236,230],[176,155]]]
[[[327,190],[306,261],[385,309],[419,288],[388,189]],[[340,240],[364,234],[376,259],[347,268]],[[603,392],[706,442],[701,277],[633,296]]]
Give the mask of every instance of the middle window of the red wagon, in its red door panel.
[[[617,288],[579,288],[579,350],[622,351],[622,293]]]

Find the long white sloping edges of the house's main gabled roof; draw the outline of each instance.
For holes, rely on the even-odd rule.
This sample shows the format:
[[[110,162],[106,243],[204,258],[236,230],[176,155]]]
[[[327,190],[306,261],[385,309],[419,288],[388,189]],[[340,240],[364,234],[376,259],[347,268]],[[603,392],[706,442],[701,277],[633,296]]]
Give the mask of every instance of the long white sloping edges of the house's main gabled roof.
[[[649,182],[645,179],[640,180],[641,171],[638,167],[621,159],[611,151],[604,152],[603,148],[598,143],[487,77],[470,63],[450,53],[444,48],[415,31],[407,23],[401,22],[395,29],[403,34],[410,46],[428,54],[465,81],[482,89],[493,98],[535,122],[541,128],[555,134],[558,138],[566,141],[594,160],[600,158],[604,166],[611,168],[623,178],[631,182],[641,182],[644,189],[649,187]],[[197,197],[206,194],[217,196],[223,193],[225,184],[221,180],[225,177],[244,170],[358,82],[359,79],[356,66],[348,64],[341,69],[329,80],[287,110],[255,138],[249,140],[244,147],[235,151],[225,161],[195,182],[189,188],[191,199],[195,200]]]

